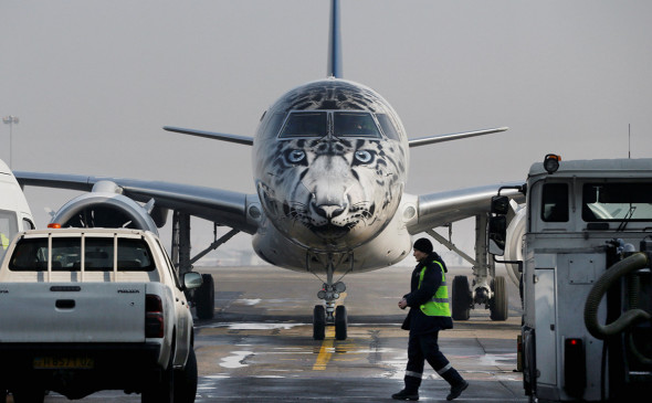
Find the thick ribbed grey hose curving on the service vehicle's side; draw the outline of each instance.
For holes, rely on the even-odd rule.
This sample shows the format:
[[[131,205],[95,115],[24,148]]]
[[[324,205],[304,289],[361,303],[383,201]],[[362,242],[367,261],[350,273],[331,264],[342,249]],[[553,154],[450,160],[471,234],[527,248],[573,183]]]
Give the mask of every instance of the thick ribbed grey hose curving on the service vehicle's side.
[[[598,306],[611,285],[630,272],[646,267],[648,264],[648,256],[644,253],[635,253],[616,263],[596,282],[585,304],[585,326],[596,339],[603,340],[622,332],[637,321],[651,318],[650,314],[642,309],[630,309],[609,325],[602,326],[598,322]]]

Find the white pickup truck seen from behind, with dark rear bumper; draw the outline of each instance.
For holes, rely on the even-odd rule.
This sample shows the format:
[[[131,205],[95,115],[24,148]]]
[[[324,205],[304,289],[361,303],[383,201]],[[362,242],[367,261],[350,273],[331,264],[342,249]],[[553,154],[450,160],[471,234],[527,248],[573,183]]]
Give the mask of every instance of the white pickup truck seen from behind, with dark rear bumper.
[[[125,229],[19,233],[0,266],[0,397],[99,390],[193,402],[197,360],[183,294],[158,237]],[[3,401],[2,401],[3,402]]]

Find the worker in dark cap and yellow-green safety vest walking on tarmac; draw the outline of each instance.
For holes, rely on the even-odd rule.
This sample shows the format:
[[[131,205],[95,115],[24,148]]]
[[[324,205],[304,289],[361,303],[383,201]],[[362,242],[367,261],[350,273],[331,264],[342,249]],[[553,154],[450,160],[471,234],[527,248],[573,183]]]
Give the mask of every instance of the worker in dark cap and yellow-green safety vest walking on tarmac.
[[[433,252],[428,238],[414,242],[413,256],[418,264],[412,272],[410,294],[399,301],[399,308],[410,307],[402,329],[410,331],[408,343],[408,365],[404,389],[392,394],[395,400],[419,400],[419,386],[423,377],[424,361],[451,385],[446,400],[451,401],[469,388],[462,375],[451,365],[438,346],[439,331],[453,328],[449,291],[446,287],[446,266]]]

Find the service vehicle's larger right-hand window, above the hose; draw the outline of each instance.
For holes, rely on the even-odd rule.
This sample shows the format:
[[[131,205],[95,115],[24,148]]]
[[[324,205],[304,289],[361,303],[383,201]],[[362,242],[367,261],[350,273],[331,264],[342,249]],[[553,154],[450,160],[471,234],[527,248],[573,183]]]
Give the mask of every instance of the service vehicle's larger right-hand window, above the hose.
[[[652,221],[652,183],[585,183],[582,219],[595,221]]]

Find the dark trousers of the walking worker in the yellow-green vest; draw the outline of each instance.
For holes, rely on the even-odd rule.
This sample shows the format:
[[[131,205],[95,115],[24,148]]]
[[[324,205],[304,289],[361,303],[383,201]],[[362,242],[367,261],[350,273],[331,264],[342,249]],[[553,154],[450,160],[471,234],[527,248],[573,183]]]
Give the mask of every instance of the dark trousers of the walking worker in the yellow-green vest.
[[[451,385],[460,384],[463,381],[460,373],[451,367],[449,360],[439,350],[438,338],[439,332],[437,331],[425,335],[410,335],[404,379],[407,390],[416,391],[421,385],[425,361]]]

